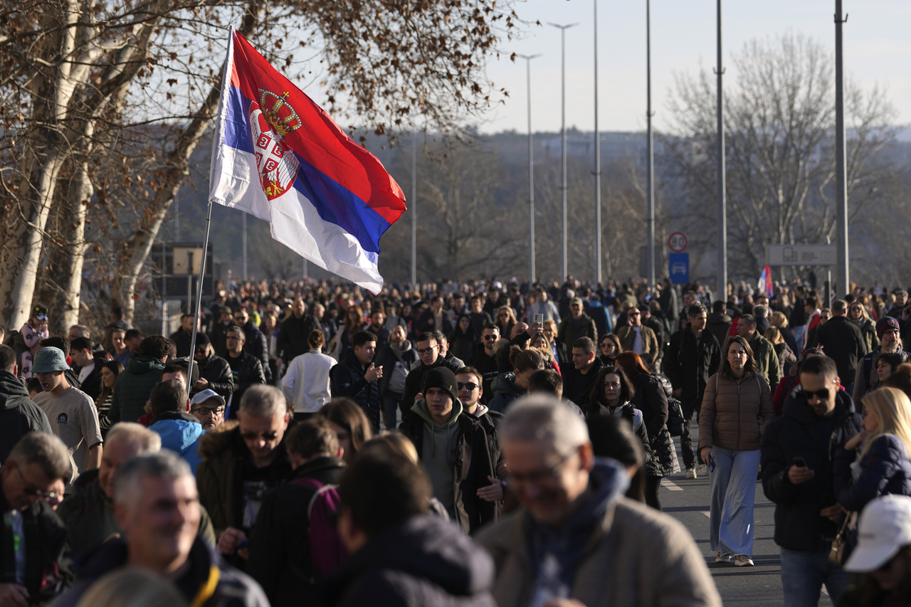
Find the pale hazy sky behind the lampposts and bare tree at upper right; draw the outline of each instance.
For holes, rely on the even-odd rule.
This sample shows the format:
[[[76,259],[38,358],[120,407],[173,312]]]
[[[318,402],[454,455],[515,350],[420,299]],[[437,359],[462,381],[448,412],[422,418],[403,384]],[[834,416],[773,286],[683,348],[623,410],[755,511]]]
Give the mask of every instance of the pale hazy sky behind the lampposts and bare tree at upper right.
[[[579,23],[567,30],[567,126],[594,125],[592,0],[517,2],[528,26],[522,39],[503,45],[508,52],[542,53],[531,62],[532,129],[560,128],[560,32],[547,23]],[[888,88],[899,121],[911,120],[911,0],[844,0],[845,74],[863,87]],[[645,0],[599,0],[599,127],[645,129]],[[725,62],[753,37],[803,34],[834,52],[834,0],[724,0]],[[697,74],[715,64],[715,1],[652,0],[652,104],[655,126],[666,123],[666,103],[675,73]],[[732,78],[726,66],[725,77]],[[487,114],[484,132],[527,132],[525,61],[491,62],[488,75],[507,87],[510,98]]]

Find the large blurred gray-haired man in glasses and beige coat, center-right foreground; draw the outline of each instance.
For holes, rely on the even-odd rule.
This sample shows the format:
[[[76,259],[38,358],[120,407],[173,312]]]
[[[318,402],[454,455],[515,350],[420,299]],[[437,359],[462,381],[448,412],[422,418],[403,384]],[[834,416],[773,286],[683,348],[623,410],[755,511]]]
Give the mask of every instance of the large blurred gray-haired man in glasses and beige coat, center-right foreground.
[[[500,440],[522,508],[476,536],[496,564],[497,604],[722,604],[687,530],[623,497],[626,469],[595,458],[585,422],[557,398],[520,399]]]

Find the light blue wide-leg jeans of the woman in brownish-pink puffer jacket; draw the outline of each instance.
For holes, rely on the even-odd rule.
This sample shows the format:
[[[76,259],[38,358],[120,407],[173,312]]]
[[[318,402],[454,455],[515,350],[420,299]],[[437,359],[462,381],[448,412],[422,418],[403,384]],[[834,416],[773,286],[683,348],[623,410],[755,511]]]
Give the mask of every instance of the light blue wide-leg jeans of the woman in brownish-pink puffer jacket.
[[[715,458],[715,471],[709,477],[711,551],[750,556],[760,451],[713,447],[711,452]]]

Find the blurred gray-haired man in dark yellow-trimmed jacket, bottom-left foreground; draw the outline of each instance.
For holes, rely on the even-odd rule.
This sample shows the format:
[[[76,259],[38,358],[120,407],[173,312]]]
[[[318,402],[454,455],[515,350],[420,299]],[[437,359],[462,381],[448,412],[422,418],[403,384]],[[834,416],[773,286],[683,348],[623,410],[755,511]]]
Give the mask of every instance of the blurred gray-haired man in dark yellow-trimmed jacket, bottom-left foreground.
[[[122,536],[80,562],[77,584],[54,604],[77,605],[98,578],[141,567],[173,581],[188,604],[268,607],[259,584],[200,540],[200,499],[187,462],[170,451],[140,455],[114,475],[114,516]]]

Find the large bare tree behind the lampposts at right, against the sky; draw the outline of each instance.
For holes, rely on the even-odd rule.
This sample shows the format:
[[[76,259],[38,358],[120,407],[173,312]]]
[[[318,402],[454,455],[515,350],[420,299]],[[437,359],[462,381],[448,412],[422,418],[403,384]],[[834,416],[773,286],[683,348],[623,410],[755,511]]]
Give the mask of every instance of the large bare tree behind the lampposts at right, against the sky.
[[[725,90],[728,254],[731,275],[754,278],[770,243],[834,237],[834,85],[831,58],[803,36],[753,40],[729,67]],[[731,80],[729,80],[730,82]],[[699,246],[716,246],[714,79],[677,78],[664,138]],[[873,161],[892,139],[894,108],[882,91],[846,92],[849,216],[878,199],[875,183],[890,169]]]

